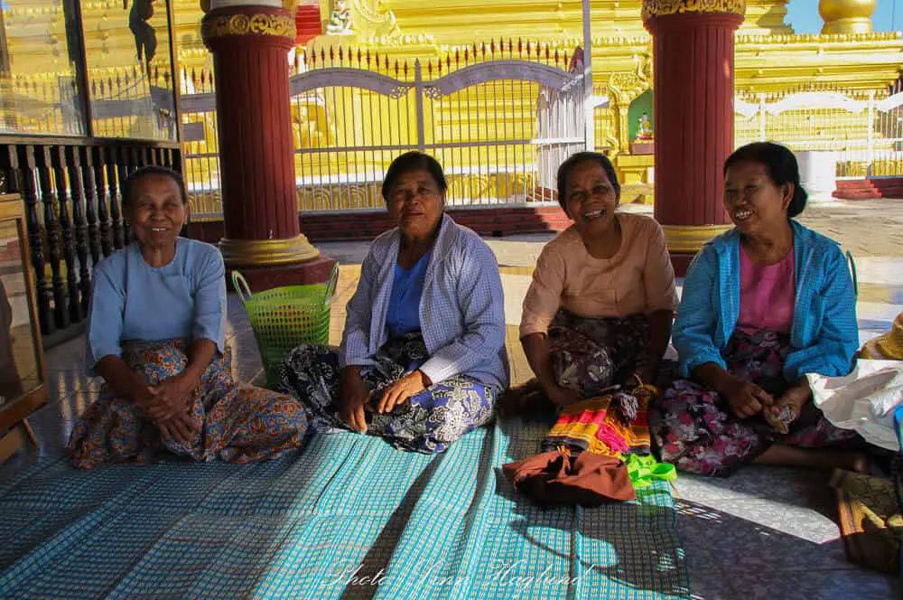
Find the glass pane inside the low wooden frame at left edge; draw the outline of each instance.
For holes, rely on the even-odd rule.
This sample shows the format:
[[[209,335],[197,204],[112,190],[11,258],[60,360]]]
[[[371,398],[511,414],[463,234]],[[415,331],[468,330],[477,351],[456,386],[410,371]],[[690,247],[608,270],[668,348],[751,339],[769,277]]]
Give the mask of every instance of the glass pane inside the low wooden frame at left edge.
[[[0,404],[41,383],[16,222],[0,222]]]

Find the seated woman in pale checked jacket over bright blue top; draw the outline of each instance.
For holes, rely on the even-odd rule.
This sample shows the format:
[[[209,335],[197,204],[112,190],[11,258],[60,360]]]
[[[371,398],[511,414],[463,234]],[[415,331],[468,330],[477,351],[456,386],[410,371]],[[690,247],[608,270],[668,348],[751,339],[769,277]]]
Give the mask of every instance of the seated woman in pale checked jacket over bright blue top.
[[[501,278],[486,243],[444,214],[447,187],[431,156],[389,166],[398,226],[364,259],[341,347],[305,344],[284,362],[282,388],[312,427],[434,453],[491,419],[508,380]]]

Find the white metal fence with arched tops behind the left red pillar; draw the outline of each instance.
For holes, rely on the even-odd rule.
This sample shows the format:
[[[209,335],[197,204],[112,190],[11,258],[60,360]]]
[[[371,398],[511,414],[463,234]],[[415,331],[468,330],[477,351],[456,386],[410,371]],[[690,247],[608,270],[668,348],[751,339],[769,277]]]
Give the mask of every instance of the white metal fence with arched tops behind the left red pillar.
[[[299,209],[382,208],[386,168],[407,150],[439,160],[451,206],[552,201],[558,165],[585,147],[582,74],[517,58],[476,61],[452,72],[449,61],[445,74],[442,67],[442,61],[425,68],[419,61],[396,62],[293,75]],[[192,208],[195,218],[218,217],[212,81],[184,83],[195,91],[182,97]]]

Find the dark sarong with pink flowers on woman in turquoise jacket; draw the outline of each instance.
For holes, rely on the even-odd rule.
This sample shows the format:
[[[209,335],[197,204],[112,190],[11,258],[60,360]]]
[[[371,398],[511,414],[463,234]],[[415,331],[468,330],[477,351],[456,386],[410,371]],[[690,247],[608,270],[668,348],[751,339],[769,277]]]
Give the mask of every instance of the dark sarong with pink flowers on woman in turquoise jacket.
[[[775,398],[787,390],[782,370],[790,352],[787,333],[737,330],[724,351],[728,372],[752,381]],[[782,435],[762,415],[740,418],[726,399],[691,380],[676,380],[650,411],[653,439],[664,462],[682,471],[728,475],[772,444],[818,447],[857,439],[834,427],[811,401]]]

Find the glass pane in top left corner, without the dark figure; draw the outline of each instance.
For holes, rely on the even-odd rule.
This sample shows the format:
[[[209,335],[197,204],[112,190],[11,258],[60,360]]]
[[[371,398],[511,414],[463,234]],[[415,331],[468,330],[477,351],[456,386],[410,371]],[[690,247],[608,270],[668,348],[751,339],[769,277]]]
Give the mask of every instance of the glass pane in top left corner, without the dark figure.
[[[85,135],[78,27],[61,0],[0,0],[0,133]]]

